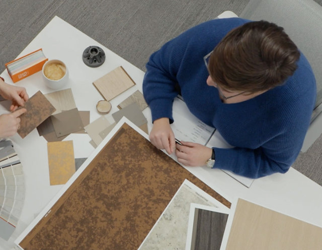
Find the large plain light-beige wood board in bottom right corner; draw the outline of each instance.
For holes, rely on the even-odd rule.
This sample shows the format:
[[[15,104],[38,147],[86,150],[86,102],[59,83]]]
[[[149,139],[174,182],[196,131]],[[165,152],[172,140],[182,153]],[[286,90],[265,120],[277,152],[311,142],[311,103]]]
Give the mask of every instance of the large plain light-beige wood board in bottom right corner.
[[[322,228],[238,199],[226,250],[322,249]]]

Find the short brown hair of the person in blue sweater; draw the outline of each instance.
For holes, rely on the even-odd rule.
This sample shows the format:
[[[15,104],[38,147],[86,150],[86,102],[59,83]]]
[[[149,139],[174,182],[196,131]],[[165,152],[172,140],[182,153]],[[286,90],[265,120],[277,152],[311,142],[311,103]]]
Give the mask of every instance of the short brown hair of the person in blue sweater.
[[[249,22],[218,43],[208,68],[222,88],[255,93],[283,84],[296,70],[299,56],[282,27],[267,21]]]

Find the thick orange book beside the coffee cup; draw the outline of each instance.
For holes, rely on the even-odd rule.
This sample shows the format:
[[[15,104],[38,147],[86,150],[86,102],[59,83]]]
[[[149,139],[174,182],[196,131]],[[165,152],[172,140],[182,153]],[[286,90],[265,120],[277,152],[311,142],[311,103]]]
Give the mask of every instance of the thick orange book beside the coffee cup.
[[[14,83],[42,70],[48,60],[42,49],[38,49],[6,64],[7,71]]]

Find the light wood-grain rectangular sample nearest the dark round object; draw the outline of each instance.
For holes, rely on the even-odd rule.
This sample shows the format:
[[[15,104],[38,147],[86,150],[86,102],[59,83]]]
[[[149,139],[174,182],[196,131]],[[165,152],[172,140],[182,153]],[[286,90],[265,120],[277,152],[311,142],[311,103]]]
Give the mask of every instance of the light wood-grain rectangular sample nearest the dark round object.
[[[97,79],[93,84],[107,101],[135,85],[122,66]]]

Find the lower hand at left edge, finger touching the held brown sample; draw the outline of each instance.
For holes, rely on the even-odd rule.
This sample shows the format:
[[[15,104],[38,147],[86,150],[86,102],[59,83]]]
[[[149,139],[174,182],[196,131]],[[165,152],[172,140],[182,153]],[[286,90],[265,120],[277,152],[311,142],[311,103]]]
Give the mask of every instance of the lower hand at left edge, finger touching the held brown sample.
[[[0,138],[13,136],[20,128],[20,115],[27,109],[21,108],[11,114],[0,115]]]

